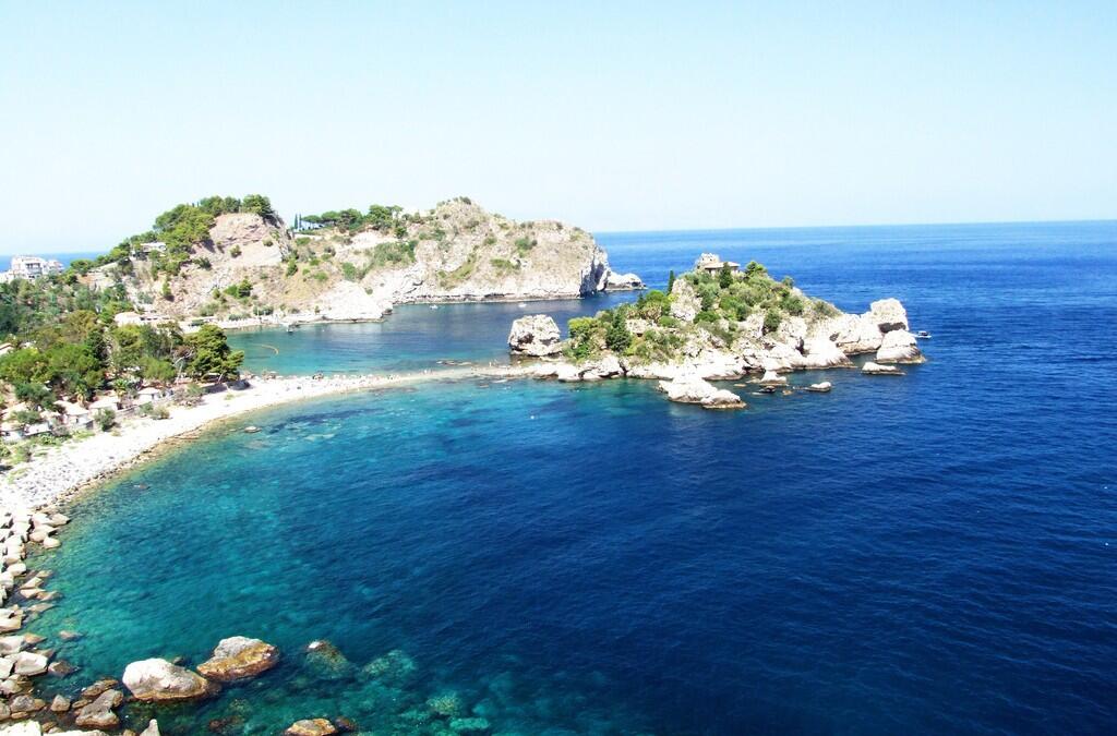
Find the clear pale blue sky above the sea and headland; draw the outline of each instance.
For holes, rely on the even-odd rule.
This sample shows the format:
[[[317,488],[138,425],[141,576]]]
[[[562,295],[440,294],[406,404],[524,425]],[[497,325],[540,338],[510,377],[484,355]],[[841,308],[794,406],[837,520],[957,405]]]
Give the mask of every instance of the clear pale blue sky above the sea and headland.
[[[1117,2],[0,0],[0,251],[213,193],[593,230],[1117,217]]]

